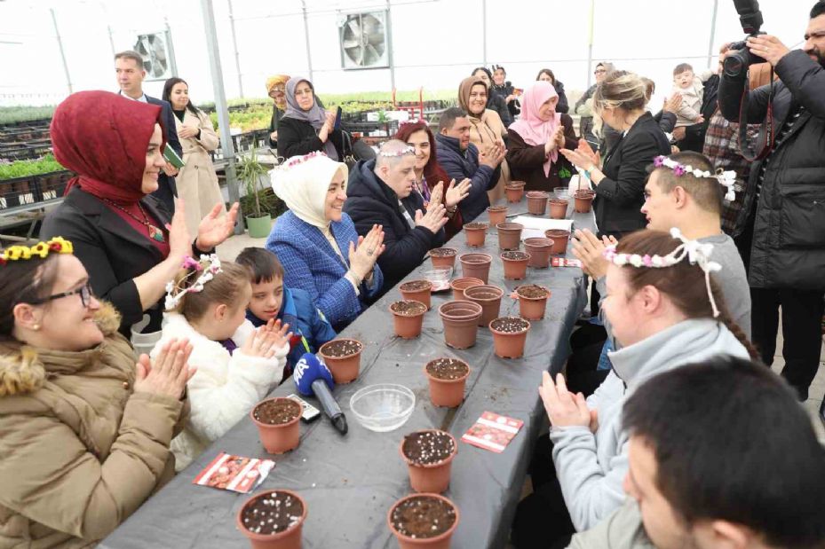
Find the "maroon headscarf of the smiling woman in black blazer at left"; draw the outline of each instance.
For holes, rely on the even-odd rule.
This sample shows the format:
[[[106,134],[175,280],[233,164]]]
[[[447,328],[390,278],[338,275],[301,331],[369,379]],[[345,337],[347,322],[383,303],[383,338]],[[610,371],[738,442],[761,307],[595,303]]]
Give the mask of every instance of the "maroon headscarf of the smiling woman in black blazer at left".
[[[98,198],[137,202],[146,169],[147,145],[155,123],[166,132],[161,107],[132,101],[109,91],[78,91],[55,109],[50,132],[54,157],[77,176],[66,192],[79,184]]]

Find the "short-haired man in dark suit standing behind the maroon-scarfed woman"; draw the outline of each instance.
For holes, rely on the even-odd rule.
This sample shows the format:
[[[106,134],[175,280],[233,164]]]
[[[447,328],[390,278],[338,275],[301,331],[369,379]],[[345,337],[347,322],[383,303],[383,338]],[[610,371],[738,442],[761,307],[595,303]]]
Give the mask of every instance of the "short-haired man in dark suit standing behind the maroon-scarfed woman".
[[[120,94],[125,98],[135,101],[143,101],[152,105],[159,105],[163,108],[163,125],[166,126],[166,145],[183,157],[183,148],[178,141],[178,130],[175,127],[175,117],[172,114],[172,107],[167,101],[147,96],[143,92],[143,79],[147,72],[143,68],[143,58],[137,51],[121,51],[115,55],[115,74],[117,75],[117,85],[120,86]],[[169,214],[175,212],[175,197],[178,196],[178,188],[175,186],[175,176],[178,169],[166,162],[166,167],[157,180],[157,191],[152,194],[163,203],[169,210]]]

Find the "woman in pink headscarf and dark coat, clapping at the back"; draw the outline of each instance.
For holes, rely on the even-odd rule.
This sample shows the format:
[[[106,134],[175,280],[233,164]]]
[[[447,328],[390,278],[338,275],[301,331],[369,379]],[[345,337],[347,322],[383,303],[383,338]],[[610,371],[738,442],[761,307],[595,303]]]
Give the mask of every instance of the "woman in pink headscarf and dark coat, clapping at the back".
[[[550,82],[534,82],[522,99],[521,118],[507,129],[512,178],[527,182],[528,191],[567,186],[573,166],[559,149],[576,145],[573,119],[556,112],[559,94]]]

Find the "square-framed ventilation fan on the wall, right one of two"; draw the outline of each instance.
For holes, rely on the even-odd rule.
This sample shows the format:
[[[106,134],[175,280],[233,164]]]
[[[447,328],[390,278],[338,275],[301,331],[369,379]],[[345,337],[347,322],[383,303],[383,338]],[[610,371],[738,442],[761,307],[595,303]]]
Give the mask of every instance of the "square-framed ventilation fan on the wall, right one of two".
[[[386,12],[348,13],[338,31],[345,69],[389,67]]]

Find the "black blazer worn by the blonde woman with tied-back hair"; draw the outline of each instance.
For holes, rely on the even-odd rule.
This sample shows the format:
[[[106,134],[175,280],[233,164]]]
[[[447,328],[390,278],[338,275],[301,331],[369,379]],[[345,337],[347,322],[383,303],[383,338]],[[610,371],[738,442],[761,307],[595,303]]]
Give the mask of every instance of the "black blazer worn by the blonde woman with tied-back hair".
[[[647,166],[660,155],[670,154],[670,144],[650,113],[642,114],[627,135],[605,156],[596,185],[596,225],[601,234],[623,235],[647,225],[640,208],[645,202]]]

